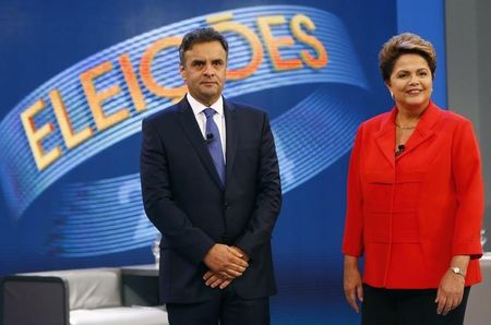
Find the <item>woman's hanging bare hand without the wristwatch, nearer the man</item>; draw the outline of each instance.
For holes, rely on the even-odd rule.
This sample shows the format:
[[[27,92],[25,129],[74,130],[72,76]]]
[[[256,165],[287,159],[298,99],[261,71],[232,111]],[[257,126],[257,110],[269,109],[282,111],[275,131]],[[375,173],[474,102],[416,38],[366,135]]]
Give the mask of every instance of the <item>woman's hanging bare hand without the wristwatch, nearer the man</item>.
[[[360,306],[358,301],[363,302],[363,287],[361,282],[361,274],[358,269],[358,257],[345,255],[344,272],[345,297],[349,305],[359,313]]]

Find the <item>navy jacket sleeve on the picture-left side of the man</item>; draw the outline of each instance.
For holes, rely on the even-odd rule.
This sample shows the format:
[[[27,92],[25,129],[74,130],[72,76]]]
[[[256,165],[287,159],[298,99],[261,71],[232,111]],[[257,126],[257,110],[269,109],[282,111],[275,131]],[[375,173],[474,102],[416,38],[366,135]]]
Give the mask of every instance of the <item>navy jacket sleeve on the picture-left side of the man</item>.
[[[172,249],[199,264],[215,242],[176,205],[165,148],[149,121],[143,121],[142,133],[140,178],[145,213]]]

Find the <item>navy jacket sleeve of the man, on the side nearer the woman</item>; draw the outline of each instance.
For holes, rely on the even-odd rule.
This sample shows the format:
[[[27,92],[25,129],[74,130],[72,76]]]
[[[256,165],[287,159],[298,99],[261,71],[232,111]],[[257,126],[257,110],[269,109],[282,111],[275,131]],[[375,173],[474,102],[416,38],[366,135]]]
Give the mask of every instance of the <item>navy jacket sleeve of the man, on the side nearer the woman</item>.
[[[252,260],[259,256],[265,243],[270,243],[282,207],[282,183],[275,142],[266,113],[263,119],[254,209],[244,232],[235,242],[235,245]]]

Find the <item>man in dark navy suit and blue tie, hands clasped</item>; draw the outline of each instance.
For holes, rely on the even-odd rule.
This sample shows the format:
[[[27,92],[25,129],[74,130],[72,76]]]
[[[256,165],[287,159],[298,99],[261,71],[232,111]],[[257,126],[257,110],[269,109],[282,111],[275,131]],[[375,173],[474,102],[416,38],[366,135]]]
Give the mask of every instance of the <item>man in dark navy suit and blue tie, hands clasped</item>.
[[[282,189],[267,116],[223,98],[228,44],[215,29],[187,34],[179,53],[188,94],[143,121],[141,153],[169,322],[270,324]]]

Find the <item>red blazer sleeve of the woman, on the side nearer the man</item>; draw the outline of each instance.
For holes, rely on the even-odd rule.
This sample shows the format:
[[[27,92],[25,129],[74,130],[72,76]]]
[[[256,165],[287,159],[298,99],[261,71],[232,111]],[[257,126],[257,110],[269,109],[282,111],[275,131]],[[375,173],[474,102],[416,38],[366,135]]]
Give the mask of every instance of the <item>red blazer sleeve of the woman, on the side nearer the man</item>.
[[[343,254],[361,256],[363,253],[363,195],[360,179],[360,152],[362,143],[362,125],[358,129],[351,151],[348,168],[347,207]]]

